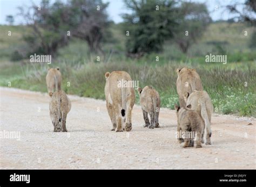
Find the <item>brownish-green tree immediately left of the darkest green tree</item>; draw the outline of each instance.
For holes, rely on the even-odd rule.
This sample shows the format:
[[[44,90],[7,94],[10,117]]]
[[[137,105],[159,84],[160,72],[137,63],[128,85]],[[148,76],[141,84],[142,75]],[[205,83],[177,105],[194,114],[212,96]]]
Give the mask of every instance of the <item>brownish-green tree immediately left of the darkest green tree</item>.
[[[110,37],[108,30],[110,21],[106,8],[109,3],[102,0],[71,0],[70,9],[73,17],[71,25],[75,28],[72,33],[75,37],[85,40],[91,52],[104,53],[100,43]]]

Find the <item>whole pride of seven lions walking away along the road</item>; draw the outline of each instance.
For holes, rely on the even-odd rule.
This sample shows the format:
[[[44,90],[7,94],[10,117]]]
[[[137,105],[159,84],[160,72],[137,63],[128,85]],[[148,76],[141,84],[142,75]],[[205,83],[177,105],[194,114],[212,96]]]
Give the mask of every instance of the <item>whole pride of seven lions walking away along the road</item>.
[[[177,69],[177,75],[179,105],[176,104],[174,109],[178,118],[178,142],[184,142],[183,147],[193,147],[194,139],[196,139],[197,148],[202,147],[201,143],[211,145],[211,116],[213,112],[211,98],[203,90],[196,69]],[[132,108],[135,103],[134,88],[120,86],[118,82],[129,82],[132,81],[132,78],[125,71],[106,72],[105,78],[104,91],[106,108],[112,123],[111,131],[131,131]],[[71,110],[71,101],[61,90],[61,81],[62,75],[59,68],[50,68],[46,75],[46,85],[51,97],[49,109],[54,132],[67,132],[66,117]],[[137,91],[145,121],[144,127],[159,127],[159,93],[148,85],[143,89],[138,88]],[[150,116],[150,120],[148,116]],[[191,132],[196,133],[196,136],[191,136]]]

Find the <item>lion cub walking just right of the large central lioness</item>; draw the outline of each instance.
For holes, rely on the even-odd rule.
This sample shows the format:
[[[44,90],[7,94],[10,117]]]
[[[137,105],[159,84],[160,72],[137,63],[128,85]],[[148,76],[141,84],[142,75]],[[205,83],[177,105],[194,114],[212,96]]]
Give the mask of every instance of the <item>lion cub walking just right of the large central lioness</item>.
[[[158,117],[160,110],[160,97],[159,93],[152,87],[146,86],[143,89],[138,88],[139,101],[142,106],[143,117],[145,121],[144,127],[154,128],[159,127]],[[150,114],[150,121],[147,116]]]

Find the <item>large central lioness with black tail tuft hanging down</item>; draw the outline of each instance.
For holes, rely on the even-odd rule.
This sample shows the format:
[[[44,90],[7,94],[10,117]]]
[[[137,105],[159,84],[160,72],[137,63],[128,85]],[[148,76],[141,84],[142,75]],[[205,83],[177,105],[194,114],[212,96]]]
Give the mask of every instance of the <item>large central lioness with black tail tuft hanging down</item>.
[[[132,81],[131,76],[125,71],[113,71],[106,72],[105,78],[106,107],[112,122],[112,131],[131,131],[132,108],[135,103],[134,89],[121,84]]]

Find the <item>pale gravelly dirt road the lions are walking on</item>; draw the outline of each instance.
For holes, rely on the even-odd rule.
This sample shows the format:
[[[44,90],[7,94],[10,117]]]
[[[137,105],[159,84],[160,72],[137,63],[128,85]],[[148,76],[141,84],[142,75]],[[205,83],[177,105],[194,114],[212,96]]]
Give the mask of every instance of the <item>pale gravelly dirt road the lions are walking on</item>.
[[[46,93],[0,90],[1,169],[255,169],[255,118],[213,114],[212,145],[183,148],[169,109],[152,130],[136,105],[132,131],[116,133],[105,101],[69,96],[68,132],[53,133]]]

